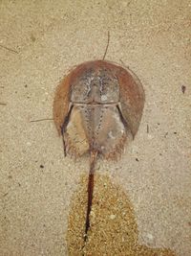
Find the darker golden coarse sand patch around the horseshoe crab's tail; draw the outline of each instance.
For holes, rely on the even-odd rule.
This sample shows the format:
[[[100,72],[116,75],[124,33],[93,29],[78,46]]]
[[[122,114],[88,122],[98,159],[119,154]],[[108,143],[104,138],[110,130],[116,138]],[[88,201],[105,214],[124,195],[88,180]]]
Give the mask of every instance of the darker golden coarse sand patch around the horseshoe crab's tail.
[[[95,175],[88,239],[84,242],[88,177],[81,177],[72,198],[67,244],[69,255],[175,256],[167,248],[138,244],[138,225],[127,194],[107,175]]]

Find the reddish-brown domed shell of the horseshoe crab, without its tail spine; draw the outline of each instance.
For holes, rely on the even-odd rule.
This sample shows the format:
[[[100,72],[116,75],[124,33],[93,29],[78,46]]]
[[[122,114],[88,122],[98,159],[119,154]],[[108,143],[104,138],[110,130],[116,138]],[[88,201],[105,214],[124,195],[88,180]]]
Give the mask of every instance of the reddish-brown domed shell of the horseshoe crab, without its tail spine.
[[[116,158],[138,131],[144,91],[137,76],[117,64],[79,64],[58,85],[53,120],[66,151]]]

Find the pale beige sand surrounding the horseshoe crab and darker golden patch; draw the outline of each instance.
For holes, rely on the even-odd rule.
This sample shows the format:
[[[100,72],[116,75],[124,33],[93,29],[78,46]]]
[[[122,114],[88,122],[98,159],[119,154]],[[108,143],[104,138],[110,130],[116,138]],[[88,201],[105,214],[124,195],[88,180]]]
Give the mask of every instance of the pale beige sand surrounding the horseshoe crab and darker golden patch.
[[[0,255],[71,248],[74,192],[89,159],[64,158],[53,120],[31,121],[53,118],[57,84],[103,57],[108,30],[106,59],[138,75],[146,100],[135,140],[119,161],[100,159],[96,173],[117,182],[121,207],[132,205],[138,246],[191,254],[190,10],[188,0],[0,2]]]

